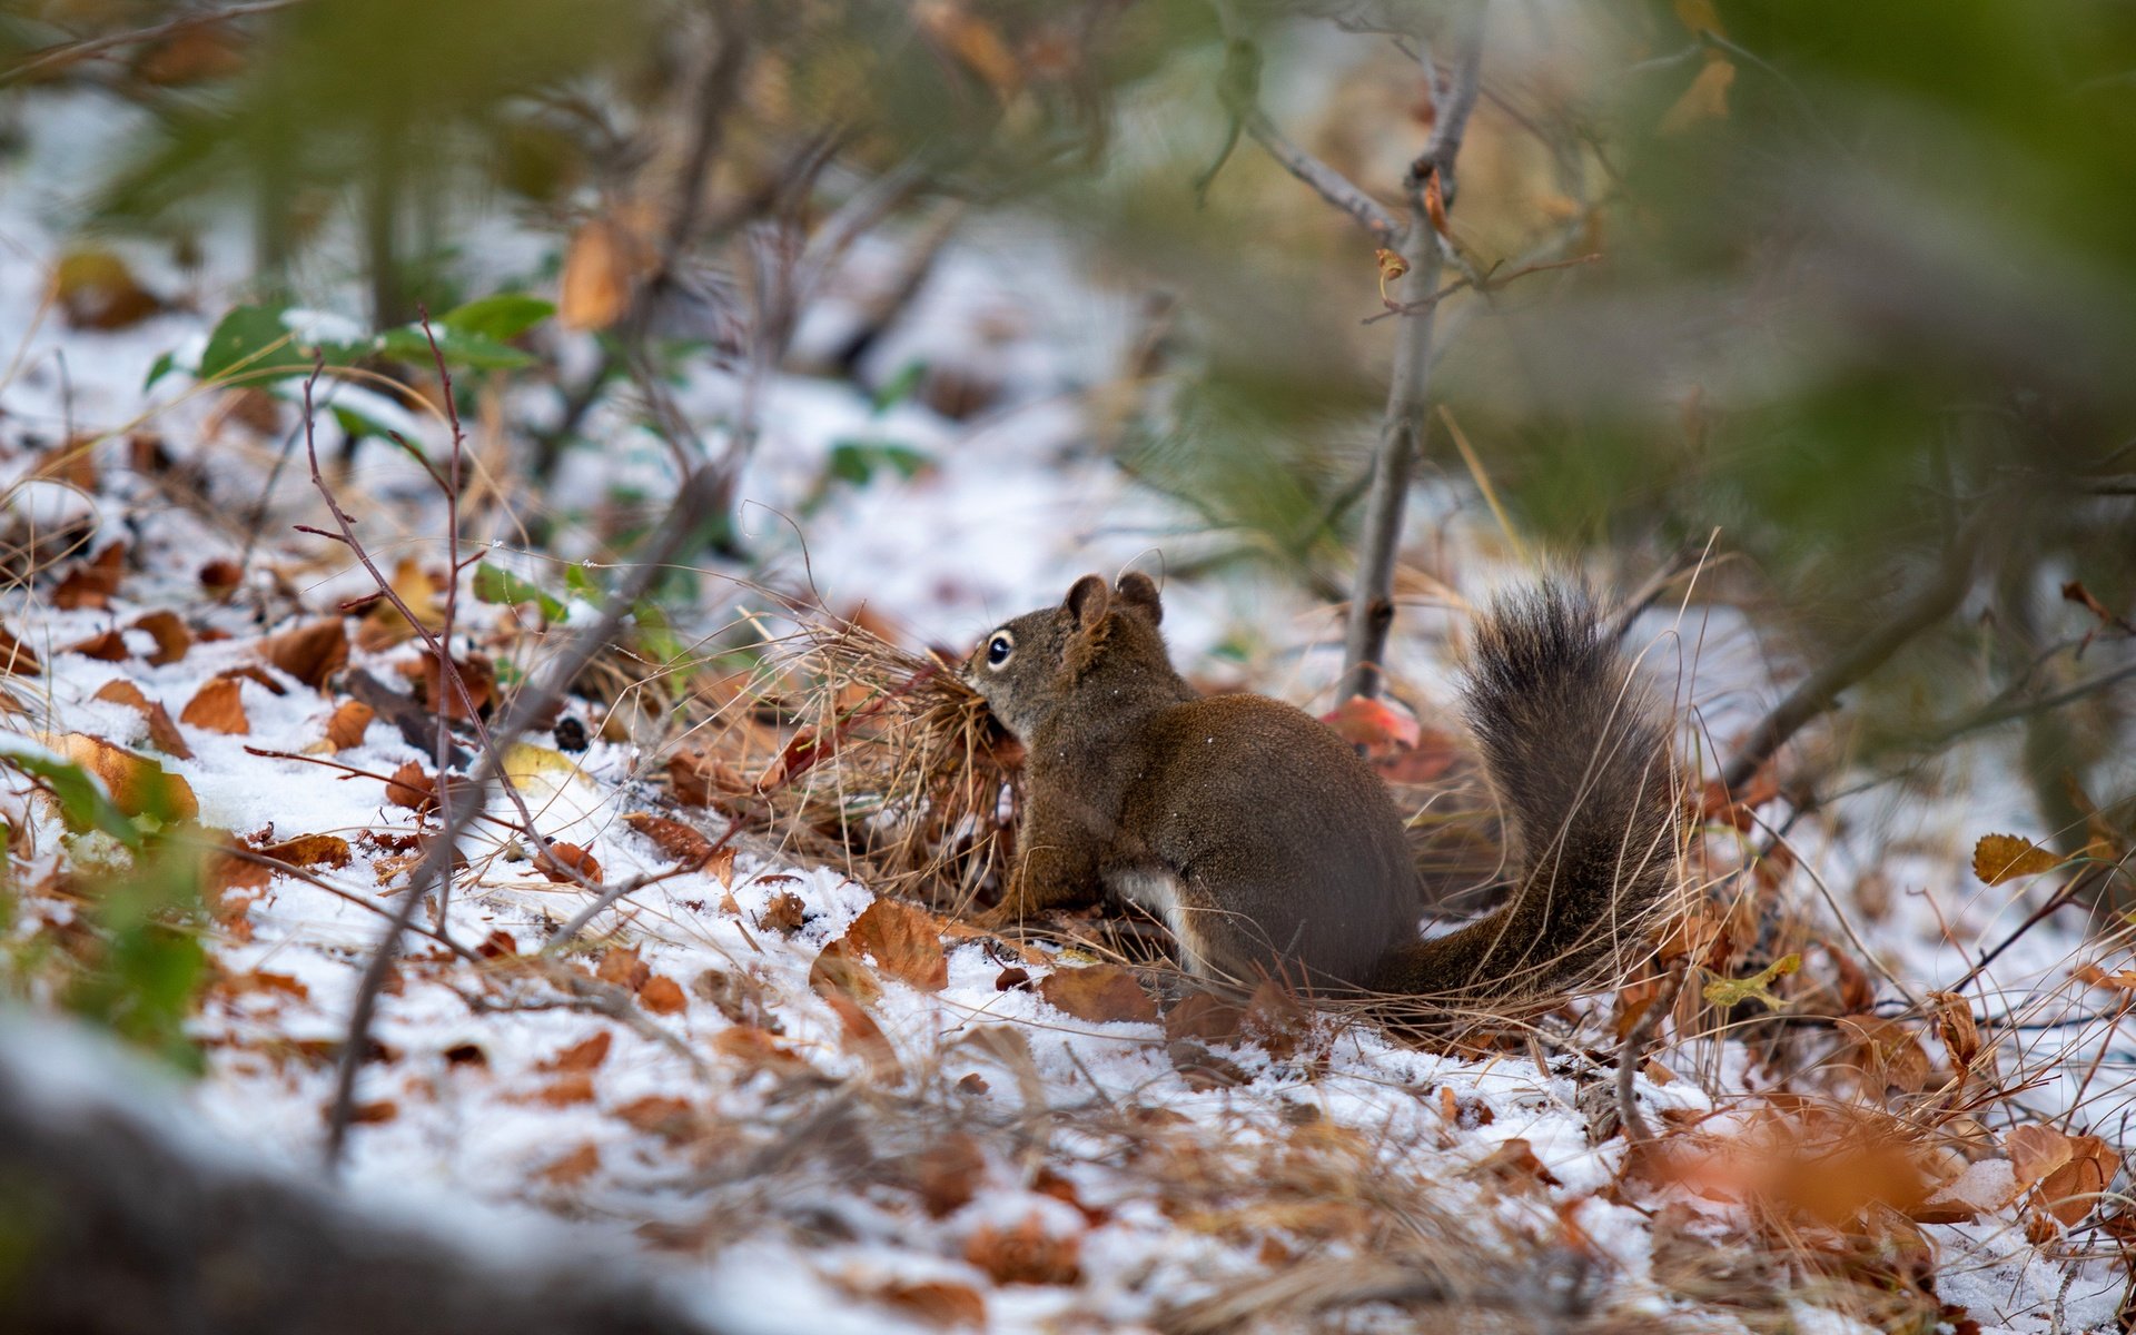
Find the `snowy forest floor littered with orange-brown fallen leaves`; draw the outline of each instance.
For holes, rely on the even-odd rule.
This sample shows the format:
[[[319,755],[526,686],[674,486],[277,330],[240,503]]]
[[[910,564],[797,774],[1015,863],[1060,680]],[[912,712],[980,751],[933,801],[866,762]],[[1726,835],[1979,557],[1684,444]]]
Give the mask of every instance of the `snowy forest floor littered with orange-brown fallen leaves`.
[[[197,1064],[190,1117],[318,1175],[357,985],[436,822],[438,660],[344,545],[293,528],[333,528],[301,376],[276,393],[184,374],[143,389],[158,357],[197,365],[233,305],[205,273],[229,265],[186,273],[126,250],[158,310],[98,329],[51,299],[66,246],[38,211],[36,164],[19,171],[0,190],[4,628],[34,664],[17,656],[9,681],[9,987],[96,1012],[81,978],[120,968],[126,942],[179,972],[192,959],[111,891],[143,878],[122,837],[51,799],[64,756],[128,829],[160,816],[218,850],[171,1023],[113,1023]],[[961,649],[1085,568],[1192,545],[1192,517],[1096,444],[1106,348],[1064,333],[1077,314],[1034,314],[1027,290],[1059,288],[1030,252],[1000,265],[985,246],[951,252],[895,355],[987,384],[993,406],[959,419],[925,395],[880,406],[829,376],[778,376],[745,478],[756,583],[707,568],[694,607],[673,609],[686,647],[737,624],[775,639],[810,602]],[[1083,301],[1100,327],[1126,323],[1128,299]],[[504,461],[553,391],[464,391],[481,404],[474,472],[493,481],[464,532],[489,543],[538,502]],[[692,372],[681,402],[716,412],[731,393]],[[434,421],[412,429],[442,449]],[[626,412],[585,429],[600,446],[566,459],[557,493],[660,485],[656,442]],[[835,466],[854,442],[918,466],[852,481]],[[329,451],[320,478],[384,581],[442,630],[446,515],[425,470],[370,440],[352,459]],[[592,619],[598,596],[570,581],[594,570],[575,564],[598,551],[587,532],[500,540],[493,575],[466,575],[451,643],[487,669],[483,692],[538,675]],[[1487,519],[1446,515],[1433,551],[1433,575],[1472,594],[1504,572]],[[1303,598],[1183,581],[1168,611],[1198,679],[1314,707],[1326,654],[1290,649],[1324,645],[1331,624]],[[1743,626],[1705,637],[1700,615],[1651,613],[1634,641],[1696,658],[1679,696],[1726,735],[1771,684]],[[1457,731],[1433,709],[1461,617],[1425,622],[1403,651],[1429,743]],[[765,1331],[2031,1335],[2115,1320],[2130,1228],[2110,1198],[2130,1106],[2117,1072],[2132,1059],[2117,1021],[2136,978],[2074,921],[2016,931],[2051,876],[1974,878],[1974,837],[2019,820],[1993,752],[1786,837],[1739,807],[1700,812],[1687,867],[1719,908],[1687,914],[1672,944],[1694,985],[1632,1072],[1658,1130],[1634,1149],[1617,1062],[1651,978],[1446,1045],[1277,993],[1207,1006],[1072,936],[1006,942],[878,895],[782,831],[778,803],[752,805],[790,718],[752,716],[760,698],[737,709],[733,681],[690,713],[662,694],[671,662],[604,671],[596,698],[515,743],[528,814],[491,797],[451,904],[417,916],[357,1085],[350,1192],[451,1203],[468,1228],[560,1220]],[[758,745],[722,750],[728,728],[758,728]],[[457,743],[481,748],[466,720]],[[171,805],[154,812],[152,788]],[[592,886],[634,876],[647,884],[545,948]],[[1762,901],[1792,906],[1803,944],[1799,974],[1766,978],[1777,1015],[1846,1019],[1790,1027],[1756,1000],[1724,1004],[1717,940],[1756,936],[1741,906]]]

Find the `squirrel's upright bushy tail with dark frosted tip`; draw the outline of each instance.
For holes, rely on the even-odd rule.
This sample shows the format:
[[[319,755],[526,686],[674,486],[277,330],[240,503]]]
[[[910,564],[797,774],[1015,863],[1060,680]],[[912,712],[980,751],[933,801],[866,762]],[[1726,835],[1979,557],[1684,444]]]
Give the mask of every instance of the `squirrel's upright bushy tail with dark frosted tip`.
[[[1376,987],[1502,1002],[1576,989],[1675,878],[1668,726],[1591,598],[1555,583],[1480,622],[1465,694],[1519,882],[1497,912],[1391,951]]]

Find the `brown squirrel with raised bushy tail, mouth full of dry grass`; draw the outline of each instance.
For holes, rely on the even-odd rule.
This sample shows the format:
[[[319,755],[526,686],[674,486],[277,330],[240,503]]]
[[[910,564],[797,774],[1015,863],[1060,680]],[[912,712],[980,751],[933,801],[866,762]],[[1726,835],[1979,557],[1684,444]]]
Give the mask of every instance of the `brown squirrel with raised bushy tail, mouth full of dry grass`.
[[[1519,869],[1502,908],[1429,940],[1371,765],[1292,705],[1196,692],[1162,619],[1147,575],[1085,575],[963,664],[1027,754],[989,927],[1109,891],[1209,983],[1521,1002],[1615,959],[1672,884],[1668,733],[1583,592],[1544,583],[1478,624],[1465,716]]]

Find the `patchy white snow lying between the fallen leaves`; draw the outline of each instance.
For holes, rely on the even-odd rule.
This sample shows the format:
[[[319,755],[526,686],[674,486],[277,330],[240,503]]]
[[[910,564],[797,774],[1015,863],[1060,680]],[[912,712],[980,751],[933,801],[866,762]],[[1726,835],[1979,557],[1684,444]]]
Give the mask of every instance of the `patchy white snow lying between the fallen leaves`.
[[[0,192],[0,239],[43,261],[64,235],[60,205],[73,169],[58,164],[85,143],[103,141],[109,113],[94,100],[56,98],[28,115],[36,117],[34,152],[6,169],[15,188]],[[807,579],[829,609],[867,607],[914,641],[961,645],[1006,615],[1055,600],[1083,570],[1113,572],[1130,564],[1162,570],[1173,536],[1192,519],[1085,449],[1089,419],[1079,397],[1117,359],[1132,303],[1081,273],[1059,237],[1040,237],[1034,250],[1032,226],[1025,220],[1012,235],[980,233],[953,248],[914,318],[876,352],[882,365],[916,359],[963,365],[998,380],[1004,406],[989,417],[953,423],[916,404],[878,410],[850,384],[801,374],[782,374],[767,387],[765,434],[743,476],[750,504],[741,521],[743,538],[767,553],[775,577],[792,585]],[[1004,263],[1004,254],[1015,263]],[[859,256],[857,263],[865,263],[869,250]],[[179,276],[160,267],[154,254],[135,258],[152,284],[177,288]],[[1072,299],[1053,303],[1059,293]],[[17,365],[17,374],[0,380],[6,410],[0,451],[11,455],[0,466],[17,483],[36,464],[36,446],[81,429],[117,431],[132,423],[145,408],[141,378],[150,361],[197,346],[220,310],[205,301],[194,312],[156,316],[124,331],[81,333],[53,318],[41,320],[38,308],[36,267],[0,265],[0,329],[21,331],[19,355],[0,350],[0,361]],[[1004,318],[1004,312],[1019,318]],[[290,320],[308,337],[344,327],[331,312],[293,314]],[[803,335],[816,337],[807,329]],[[64,387],[53,370],[60,352]],[[583,359],[585,348],[568,357]],[[352,404],[365,391],[337,393]],[[677,399],[692,421],[716,434],[713,425],[733,419],[743,393],[735,374],[698,365]],[[207,438],[209,404],[177,389],[169,395],[154,423],[173,453],[244,478],[241,493],[248,502],[256,498],[271,451],[263,459],[261,446],[250,453],[220,449]],[[380,410],[382,399],[372,399],[376,395],[365,399],[365,410]],[[434,423],[408,417],[406,425],[410,438],[436,436]],[[658,496],[673,485],[664,451],[628,421],[626,410],[604,406],[587,429],[604,449],[566,459],[562,487],[570,493],[628,487]],[[822,481],[831,449],[852,438],[912,446],[927,455],[927,468],[906,483],[876,478],[867,487],[831,487],[801,523],[799,511]],[[286,607],[288,600],[269,602],[265,592],[265,585],[286,585],[320,611],[367,592],[370,579],[346,553],[286,532],[288,521],[320,521],[299,472],[290,468],[269,498],[280,525],[263,543],[248,598]],[[49,664],[47,677],[26,692],[36,696],[30,701],[34,728],[81,731],[145,748],[143,716],[96,701],[98,688],[132,681],[179,716],[205,681],[256,666],[258,641],[282,626],[250,617],[246,598],[214,611],[188,602],[199,624],[224,628],[231,639],[197,643],[186,658],[164,666],[139,656],[113,664],[58,651],[154,607],[197,598],[199,564],[239,551],[224,523],[229,515],[201,517],[158,502],[115,466],[105,478],[98,496],[28,481],[11,489],[9,508],[41,530],[96,517],[109,532],[124,515],[150,570],[130,577],[111,609],[60,611],[19,590],[6,619]],[[425,508],[421,472],[410,461],[370,451],[344,485],[350,498],[365,502],[361,519],[380,553],[438,557],[438,515]],[[1438,521],[1444,521],[1446,543],[1476,553],[1489,549],[1489,538],[1444,498]],[[540,564],[525,568],[536,572]],[[1476,570],[1472,598],[1514,577],[1485,555]],[[750,604],[748,590],[709,585],[707,617],[728,611],[735,600]],[[470,639],[498,630],[493,613],[472,600],[464,600],[464,609]],[[570,604],[570,622],[585,622],[587,613],[585,602]],[[1401,645],[1414,664],[1412,679],[1429,692],[1444,692],[1450,675],[1444,626],[1438,617],[1423,619]],[[1267,645],[1267,651],[1243,669],[1209,664],[1215,645],[1241,641],[1241,628],[1252,630],[1243,643]],[[1166,587],[1166,632],[1183,662],[1213,673],[1243,671],[1271,692],[1303,698],[1324,684],[1318,671],[1324,656],[1288,656],[1279,647],[1324,643],[1335,628],[1320,609],[1294,596],[1179,583]],[[1632,639],[1653,645],[1649,666],[1664,684],[1681,671],[1683,696],[1698,701],[1709,735],[1732,735],[1771,696],[1754,628],[1732,613],[1694,622],[1662,609],[1649,613]],[[147,647],[145,637],[135,641],[137,632],[128,632],[130,645]],[[357,651],[355,662],[395,681],[397,669],[412,658],[412,647],[397,647]],[[94,1045],[56,1038],[19,1019],[0,1021],[0,1062],[13,1064],[11,1074],[19,1077],[23,1053],[34,1051],[36,1079],[19,1083],[38,1087],[56,1106],[92,1096],[186,1104],[214,1128],[216,1134],[201,1134],[203,1145],[216,1145],[214,1153],[312,1173],[331,1066],[308,1055],[305,1045],[344,1036],[357,976],[382,921],[350,897],[391,908],[387,895],[399,886],[387,863],[391,854],[359,835],[417,829],[412,812],[387,805],[380,775],[404,763],[427,769],[429,756],[382,720],[357,748],[305,754],[323,737],[333,698],[282,684],[286,690],[276,694],[239,679],[250,731],[222,735],[182,724],[194,756],[164,758],[164,765],[188,780],[209,829],[350,839],[352,863],[318,871],[346,897],[282,876],[246,910],[248,933],[211,942],[226,978],[271,974],[295,987],[209,1000],[192,1025],[209,1053],[209,1072],[190,1089],[162,1081],[113,1094],[120,1085],[105,1074],[105,1057],[83,1055]],[[4,750],[43,752],[15,735]],[[1995,824],[1982,824],[1980,812],[2014,805],[1991,754],[1969,752],[1965,760],[1974,765],[1961,790],[1972,797],[1969,805],[1863,795],[1796,835],[1807,865],[1852,904],[1850,921],[1865,931],[1869,948],[1916,987],[1963,976],[1980,948],[2001,940],[2046,893],[1967,889],[1965,837]],[[575,763],[543,771],[525,786],[525,797],[543,835],[585,846],[607,878],[656,871],[664,859],[619,820],[647,810],[651,797],[643,773],[656,767],[658,756],[596,741]],[[1907,812],[1920,812],[1910,816],[1916,827],[1899,829]],[[491,816],[517,820],[502,799],[491,803]],[[637,948],[639,961],[679,985],[684,995],[675,1012],[634,1008],[632,1017],[643,1023],[617,1023],[570,1004],[572,995],[555,985],[557,970],[594,959],[592,951],[566,955],[560,965],[530,961],[585,895],[543,878],[519,842],[500,829],[493,824],[464,846],[472,884],[455,895],[440,929],[464,944],[502,931],[519,957],[470,968],[438,959],[427,938],[410,938],[412,959],[399,970],[376,1025],[391,1059],[367,1064],[357,1089],[365,1104],[391,1104],[352,1136],[348,1183],[365,1203],[468,1220],[455,1235],[478,1239],[500,1256],[540,1247],[622,1252],[641,1239],[651,1250],[675,1252],[692,1301],[731,1329],[899,1329],[904,1318],[878,1301],[893,1282],[968,1286],[985,1297],[993,1331],[1149,1329],[1181,1305],[1260,1275],[1265,1245],[1320,1247],[1337,1258],[1367,1254],[1358,1235],[1333,1226],[1326,1237],[1314,1232],[1320,1226],[1314,1211],[1356,1209],[1341,1192],[1363,1181],[1410,1205],[1429,1200],[1444,1215],[1431,1226],[1465,1235],[1482,1252],[1502,1247],[1508,1267],[1525,1267],[1532,1252],[1521,1247],[1559,1239],[1570,1222],[1604,1271],[1613,1312],[1690,1318],[1711,1331],[1743,1329],[1726,1309],[1692,1312],[1658,1282],[1653,1209],[1621,1188],[1623,1138],[1593,1143],[1583,1094],[1615,1074],[1606,1066],[1613,1040],[1598,1038],[1606,1006],[1589,1010],[1585,1030],[1553,1021],[1546,1045],[1538,1040],[1532,1051],[1489,1055],[1423,1051],[1371,1025],[1320,1017],[1297,1053],[1279,1055],[1252,1040],[1211,1045],[1235,1064],[1243,1083],[1203,1087],[1177,1070],[1162,1025],[1079,1021],[1036,991],[1004,991],[998,987],[1000,948],[951,938],[948,983],[940,991],[884,978],[871,1006],[889,1045],[884,1055],[850,1040],[842,1015],[810,983],[822,948],[852,927],[874,893],[837,869],[801,865],[760,842],[743,846],[726,878],[711,871],[673,876],[596,921],[598,946]],[[718,820],[705,829],[718,833]],[[1892,854],[1871,844],[1863,833],[1871,829],[1892,831],[1890,842],[1910,844],[1914,852]],[[38,848],[64,842],[49,810],[34,814],[32,835]],[[23,871],[19,863],[17,874]],[[1854,904],[1856,882],[1871,874],[1897,882],[1888,912],[1867,914]],[[34,882],[23,878],[23,884]],[[805,906],[792,931],[765,923],[782,895]],[[1813,901],[1807,886],[1803,895]],[[15,931],[28,933],[73,912],[75,906],[43,904],[23,914]],[[1811,912],[1831,916],[1826,908]],[[1978,995],[1991,1015],[2023,1010],[2053,1019],[2076,1004],[2068,968],[2078,948],[2074,931],[2046,923],[1980,980]],[[1079,961],[1045,957],[1034,972],[1072,963]],[[1892,993],[1882,989],[1880,995]],[[624,1004],[637,1006],[628,993]],[[596,1079],[583,1091],[568,1089],[568,1072],[557,1070],[562,1055],[602,1034],[611,1047]],[[2046,1115],[2083,1106],[2089,1079],[2083,1062],[2102,1051],[2102,1036],[2110,1038],[2098,1027],[2048,1030],[2025,1034],[2023,1047],[2012,1045],[2010,1059],[2038,1079],[2027,1091],[2029,1106]],[[752,1042],[767,1047],[750,1049]],[[1544,1051],[1564,1059],[1538,1068],[1532,1053]],[[2115,1051],[2125,1059],[2125,1049]],[[1717,1134],[1726,1126],[1724,1109],[1773,1081],[1762,1059],[1737,1042],[1685,1045],[1655,1057],[1675,1079],[1655,1083],[1640,1074],[1634,1081],[1647,1119],[1711,1119],[1709,1130]],[[1444,1113],[1448,1096],[1457,1109],[1452,1121]],[[681,1100],[709,1130],[669,1138],[639,1126],[630,1109],[647,1098]],[[1320,1128],[1320,1138],[1301,1141],[1303,1126]],[[972,1198],[940,1215],[916,1209],[901,1185],[912,1175],[906,1160],[959,1130],[985,1132]],[[1512,1141],[1527,1145],[1553,1183],[1502,1190],[1485,1181],[1478,1164]],[[585,1147],[596,1166],[579,1177],[564,1173],[560,1166]],[[1284,1164],[1284,1173],[1320,1173],[1316,1181],[1329,1183],[1326,1198],[1256,1200],[1250,1188],[1282,1177],[1273,1164]],[[1042,1173],[1053,1177],[1042,1179]],[[1942,1183],[1937,1200],[1967,1203],[1982,1218],[1925,1226],[1944,1260],[1937,1294],[1969,1307],[1986,1331],[2046,1331],[2057,1320],[2057,1303],[2063,1329],[2102,1329],[2113,1318],[2119,1277],[2104,1265],[2074,1265],[2055,1247],[2029,1243],[2010,1211],[2012,1194],[2004,1158],[1969,1162]],[[1271,1222],[1284,1209],[1292,1211],[1290,1222]],[[1728,1203],[1698,1200],[1696,1209],[1715,1220],[1732,1218]],[[995,1284],[970,1250],[987,1230],[1017,1228],[1072,1243],[1081,1279]],[[2072,1275],[2076,1279],[2066,1286]],[[1867,1329],[1807,1301],[1796,1303],[1788,1320],[1792,1329],[1833,1335]]]

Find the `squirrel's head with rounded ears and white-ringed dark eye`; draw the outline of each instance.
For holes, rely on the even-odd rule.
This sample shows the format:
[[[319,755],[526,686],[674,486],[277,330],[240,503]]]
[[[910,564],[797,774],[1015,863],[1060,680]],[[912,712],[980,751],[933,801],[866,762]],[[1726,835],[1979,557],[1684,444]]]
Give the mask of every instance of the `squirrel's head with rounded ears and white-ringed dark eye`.
[[[1102,577],[1085,575],[1059,607],[989,630],[963,662],[963,679],[1004,728],[1030,741],[1047,716],[1109,666],[1149,669],[1151,681],[1168,679],[1162,619],[1158,585],[1141,570],[1121,575],[1111,590]]]

